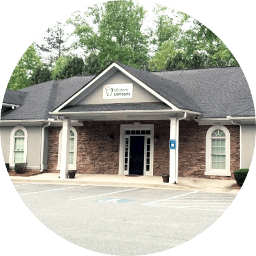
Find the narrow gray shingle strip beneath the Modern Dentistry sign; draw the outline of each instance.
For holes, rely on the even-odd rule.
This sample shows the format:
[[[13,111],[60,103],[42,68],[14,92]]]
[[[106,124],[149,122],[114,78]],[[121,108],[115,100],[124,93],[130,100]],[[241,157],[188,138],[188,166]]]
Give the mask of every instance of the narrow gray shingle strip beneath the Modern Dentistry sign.
[[[163,102],[115,103],[115,104],[88,104],[74,105],[63,108],[60,112],[91,112],[91,111],[118,111],[118,110],[163,110],[171,109]]]

